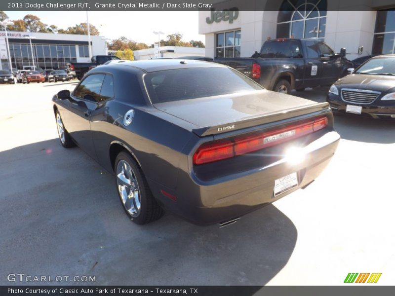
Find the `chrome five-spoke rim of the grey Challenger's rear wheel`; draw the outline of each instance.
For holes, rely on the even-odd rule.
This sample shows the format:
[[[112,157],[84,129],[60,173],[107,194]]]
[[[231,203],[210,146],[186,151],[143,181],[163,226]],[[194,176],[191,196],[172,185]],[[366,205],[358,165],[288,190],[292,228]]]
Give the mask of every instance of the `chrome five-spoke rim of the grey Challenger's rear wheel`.
[[[118,162],[116,173],[119,196],[123,206],[132,217],[137,217],[140,214],[141,202],[136,175],[124,160]]]

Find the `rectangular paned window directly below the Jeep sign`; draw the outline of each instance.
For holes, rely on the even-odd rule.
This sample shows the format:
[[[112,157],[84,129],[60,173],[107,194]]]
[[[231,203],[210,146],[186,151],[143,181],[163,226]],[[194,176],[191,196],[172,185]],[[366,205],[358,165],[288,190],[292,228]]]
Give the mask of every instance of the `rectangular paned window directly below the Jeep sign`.
[[[216,34],[217,58],[240,57],[241,31],[229,31]]]

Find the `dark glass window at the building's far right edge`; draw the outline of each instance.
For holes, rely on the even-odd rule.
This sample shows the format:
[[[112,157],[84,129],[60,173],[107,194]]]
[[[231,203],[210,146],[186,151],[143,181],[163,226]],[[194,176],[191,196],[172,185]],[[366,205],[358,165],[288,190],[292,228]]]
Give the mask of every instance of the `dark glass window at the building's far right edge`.
[[[377,11],[372,54],[395,53],[395,10]]]

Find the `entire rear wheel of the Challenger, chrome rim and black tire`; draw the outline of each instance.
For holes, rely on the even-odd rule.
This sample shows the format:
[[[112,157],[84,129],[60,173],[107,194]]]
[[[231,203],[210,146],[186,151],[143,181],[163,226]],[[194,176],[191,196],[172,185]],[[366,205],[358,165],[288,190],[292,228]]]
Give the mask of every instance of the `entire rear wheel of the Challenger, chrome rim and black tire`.
[[[126,152],[120,152],[115,160],[115,177],[118,196],[123,209],[136,224],[146,224],[163,216],[141,168]]]

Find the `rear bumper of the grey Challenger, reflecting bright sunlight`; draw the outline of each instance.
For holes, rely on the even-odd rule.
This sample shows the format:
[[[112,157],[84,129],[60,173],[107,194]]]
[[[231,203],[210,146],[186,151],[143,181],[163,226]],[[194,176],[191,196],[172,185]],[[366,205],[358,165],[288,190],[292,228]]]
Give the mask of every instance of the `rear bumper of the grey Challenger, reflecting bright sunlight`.
[[[176,190],[153,181],[149,183],[158,201],[185,220],[199,225],[224,222],[270,204],[313,182],[329,163],[339,140],[340,136],[335,131],[328,132],[304,148],[306,157],[297,165],[281,159],[213,185],[199,184],[193,177],[190,184],[177,186]],[[298,186],[275,197],[275,180],[294,172],[298,175]],[[160,189],[168,191],[177,200],[163,196]]]

